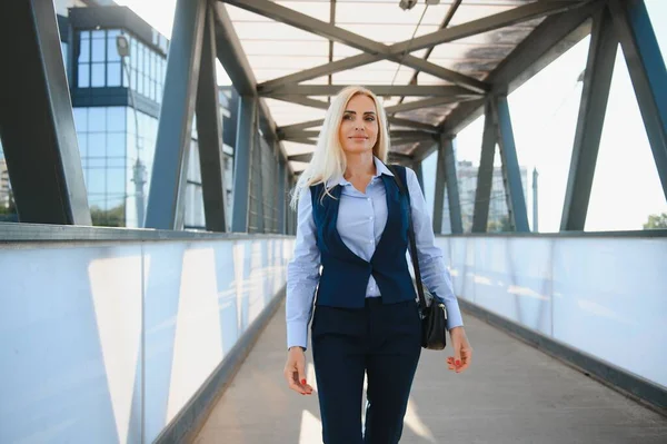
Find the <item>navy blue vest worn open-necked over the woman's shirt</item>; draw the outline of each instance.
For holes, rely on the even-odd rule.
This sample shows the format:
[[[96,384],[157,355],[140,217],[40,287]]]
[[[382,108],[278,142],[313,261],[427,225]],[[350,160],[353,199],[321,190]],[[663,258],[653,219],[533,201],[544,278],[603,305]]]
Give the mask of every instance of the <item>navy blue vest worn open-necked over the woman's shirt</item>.
[[[395,166],[404,184],[406,169]],[[417,295],[408,270],[406,251],[408,248],[407,196],[404,196],[394,177],[380,176],[387,191],[387,225],[376,246],[370,262],[352,253],[336,229],[341,186],[335,186],[321,199],[325,185],[310,187],[312,217],[317,229],[316,239],[320,250],[322,273],[317,292],[317,305],[361,308],[366,303],[366,288],[370,275],[380,288],[384,304],[415,300]]]

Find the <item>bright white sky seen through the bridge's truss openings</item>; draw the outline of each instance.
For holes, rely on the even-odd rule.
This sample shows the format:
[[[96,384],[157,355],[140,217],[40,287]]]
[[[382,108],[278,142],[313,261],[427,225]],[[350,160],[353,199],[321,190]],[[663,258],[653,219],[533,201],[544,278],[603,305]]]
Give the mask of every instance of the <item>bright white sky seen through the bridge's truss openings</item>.
[[[176,0],[117,0],[170,38]],[[645,0],[654,31],[667,52],[667,1]],[[526,196],[532,223],[532,169],[539,174],[539,231],[558,231],[581,96],[589,38],[514,91],[509,98],[519,165],[528,169]],[[218,82],[230,85],[218,66]],[[484,119],[459,134],[457,159],[479,164]],[[499,165],[499,156],[496,156]],[[425,180],[435,171],[425,169]],[[429,177],[430,176],[430,177]],[[427,196],[428,198],[428,196]],[[430,197],[432,199],[432,197]],[[586,220],[586,230],[641,229],[651,214],[667,213],[656,165],[619,48]]]

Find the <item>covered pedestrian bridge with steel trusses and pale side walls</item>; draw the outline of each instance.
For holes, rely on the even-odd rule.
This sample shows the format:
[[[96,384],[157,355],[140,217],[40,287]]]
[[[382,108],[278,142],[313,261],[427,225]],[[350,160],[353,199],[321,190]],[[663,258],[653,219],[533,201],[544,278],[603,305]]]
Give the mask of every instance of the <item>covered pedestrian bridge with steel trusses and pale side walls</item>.
[[[70,27],[68,51],[91,73],[101,62],[81,57],[79,31],[143,24],[106,1],[77,3],[89,7],[70,10],[87,28]],[[401,443],[667,442],[667,229],[586,230],[618,48],[646,135],[626,145],[628,162],[645,147],[657,184],[633,199],[667,198],[667,70],[651,24],[663,16],[647,10],[658,3],[412,3],[177,0],[168,49],[157,34],[132,37],[168,51],[161,100],[139,91],[135,101],[120,77],[103,90],[128,109],[159,110],[155,140],[142,139],[155,148],[146,203],[141,180],[128,178],[115,228],[91,216],[91,171],[111,158],[94,166],[90,140],[101,139],[83,142],[74,125],[71,100],[94,107],[94,88],[62,62],[60,16],[50,1],[0,2],[10,61],[0,136],[17,220],[0,221],[0,444],[321,442],[317,397],[282,381],[288,191],[328,98],[347,83],[382,98],[388,161],[414,168],[430,196],[475,349],[464,374],[447,371],[449,348],[422,352]],[[546,204],[560,224],[542,233],[528,217],[508,97],[586,38],[576,128],[557,147],[571,150],[564,198]],[[217,61],[232,83],[223,118]],[[479,117],[471,175],[455,140]],[[187,221],[192,199],[202,227]],[[317,385],[310,365],[308,378]]]

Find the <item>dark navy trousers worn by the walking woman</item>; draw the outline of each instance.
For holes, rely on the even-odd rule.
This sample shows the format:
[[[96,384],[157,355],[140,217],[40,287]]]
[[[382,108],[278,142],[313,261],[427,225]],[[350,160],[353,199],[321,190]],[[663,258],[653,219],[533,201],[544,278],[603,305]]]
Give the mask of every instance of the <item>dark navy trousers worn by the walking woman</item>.
[[[367,298],[364,308],[318,305],[311,330],[325,444],[398,443],[421,353],[417,303]]]

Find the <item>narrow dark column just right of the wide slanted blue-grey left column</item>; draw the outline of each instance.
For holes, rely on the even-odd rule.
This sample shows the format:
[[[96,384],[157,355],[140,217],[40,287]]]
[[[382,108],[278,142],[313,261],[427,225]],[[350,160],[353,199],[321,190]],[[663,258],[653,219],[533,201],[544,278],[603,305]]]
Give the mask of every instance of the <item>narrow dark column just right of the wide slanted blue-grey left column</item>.
[[[212,7],[207,8],[197,88],[197,134],[206,229],[228,231],[220,103],[216,81],[216,33]]]

